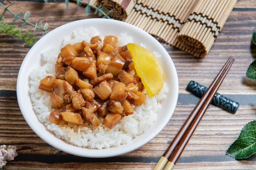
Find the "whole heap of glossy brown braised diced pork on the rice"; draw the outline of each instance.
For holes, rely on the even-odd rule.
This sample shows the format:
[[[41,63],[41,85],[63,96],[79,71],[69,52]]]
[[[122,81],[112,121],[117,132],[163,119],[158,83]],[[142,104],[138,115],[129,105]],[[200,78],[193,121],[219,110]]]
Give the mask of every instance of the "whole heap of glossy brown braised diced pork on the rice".
[[[90,42],[67,44],[55,64],[56,77],[48,75],[39,88],[50,94],[54,111],[49,121],[99,126],[103,120],[113,128],[122,117],[131,115],[146,100],[132,55],[118,39],[108,35]]]

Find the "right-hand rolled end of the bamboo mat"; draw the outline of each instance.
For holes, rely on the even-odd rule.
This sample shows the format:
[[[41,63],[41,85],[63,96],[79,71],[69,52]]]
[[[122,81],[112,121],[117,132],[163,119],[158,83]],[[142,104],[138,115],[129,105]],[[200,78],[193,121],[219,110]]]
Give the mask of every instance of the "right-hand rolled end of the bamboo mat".
[[[204,5],[198,4],[195,7],[195,11],[193,11],[190,21],[187,21],[183,27],[189,30],[180,31],[177,40],[180,41],[183,46],[190,49],[187,51],[199,52],[200,55],[197,57],[203,57],[206,55],[211,49],[211,46],[220,31],[220,25],[218,25],[218,22],[225,23],[225,21],[223,22],[220,19],[223,18],[223,15],[227,15],[227,13],[231,12],[234,7],[234,1],[236,0],[233,0],[232,2],[228,2],[228,0],[212,0],[207,2],[205,0],[200,0],[199,3],[202,2]],[[232,4],[232,6],[230,4]],[[200,14],[202,14],[202,16]],[[199,17],[203,17],[204,19],[199,20]],[[207,26],[204,28],[204,26],[201,25],[204,25],[206,21]],[[197,22],[197,24],[194,22]],[[201,35],[195,36],[197,34]],[[198,42],[192,41],[192,39]]]

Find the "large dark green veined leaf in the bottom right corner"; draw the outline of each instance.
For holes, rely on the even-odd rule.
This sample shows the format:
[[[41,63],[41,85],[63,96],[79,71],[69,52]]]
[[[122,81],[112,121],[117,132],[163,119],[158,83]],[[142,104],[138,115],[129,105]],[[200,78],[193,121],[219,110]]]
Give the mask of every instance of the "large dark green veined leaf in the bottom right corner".
[[[235,159],[246,159],[256,153],[256,121],[246,124],[226,154]]]

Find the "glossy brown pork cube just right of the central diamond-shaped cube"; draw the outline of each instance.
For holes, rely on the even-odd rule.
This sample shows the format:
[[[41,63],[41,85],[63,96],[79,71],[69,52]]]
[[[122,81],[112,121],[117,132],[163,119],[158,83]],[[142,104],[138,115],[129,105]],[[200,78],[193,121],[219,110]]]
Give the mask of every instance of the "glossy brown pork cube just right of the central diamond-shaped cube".
[[[123,102],[128,96],[125,92],[126,86],[124,83],[118,82],[112,86],[112,93],[110,95],[110,99]]]

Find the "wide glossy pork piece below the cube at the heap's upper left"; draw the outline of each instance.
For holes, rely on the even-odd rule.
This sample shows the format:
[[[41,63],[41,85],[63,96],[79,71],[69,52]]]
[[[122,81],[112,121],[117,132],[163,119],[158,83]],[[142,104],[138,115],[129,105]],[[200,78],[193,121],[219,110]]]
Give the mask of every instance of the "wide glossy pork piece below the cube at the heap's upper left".
[[[86,71],[92,62],[89,61],[88,57],[75,57],[72,60],[72,67],[79,71]]]

